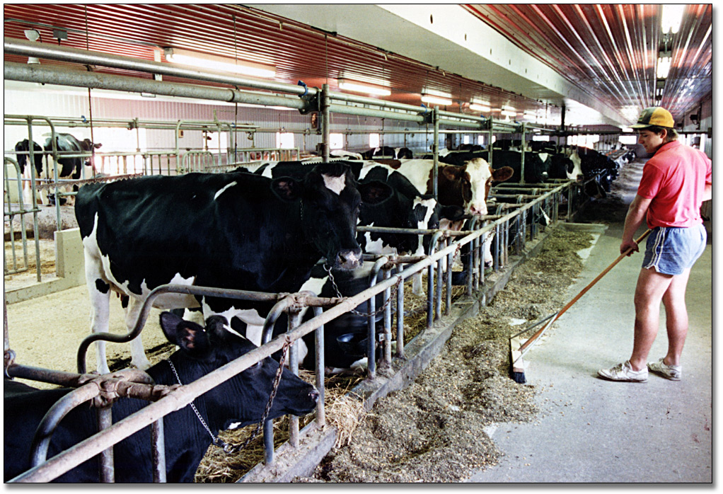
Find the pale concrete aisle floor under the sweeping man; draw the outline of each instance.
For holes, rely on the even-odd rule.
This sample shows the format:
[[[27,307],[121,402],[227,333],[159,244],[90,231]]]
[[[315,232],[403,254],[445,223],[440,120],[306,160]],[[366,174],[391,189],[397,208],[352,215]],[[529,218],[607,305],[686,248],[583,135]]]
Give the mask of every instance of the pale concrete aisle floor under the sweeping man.
[[[617,184],[628,201],[637,184],[631,187],[630,180],[639,181],[642,163],[629,166],[627,182]],[[713,271],[706,227],[709,244],[688,283],[682,380],[652,373],[647,383],[597,377],[597,370],[625,361],[632,351],[633,291],[643,257],[637,253],[607,273],[526,354],[527,384],[541,391],[539,420],[490,427],[505,456],[470,482],[712,482]],[[622,229],[622,223],[610,225],[599,237],[568,299],[619,255]],[[661,310],[649,360],[666,350]]]

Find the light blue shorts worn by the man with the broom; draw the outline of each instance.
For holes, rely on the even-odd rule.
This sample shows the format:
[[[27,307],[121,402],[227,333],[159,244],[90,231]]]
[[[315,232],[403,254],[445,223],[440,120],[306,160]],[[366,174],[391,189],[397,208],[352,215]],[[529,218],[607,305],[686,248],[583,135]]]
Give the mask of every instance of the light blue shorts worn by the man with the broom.
[[[690,228],[656,226],[646,243],[643,268],[673,276],[682,274],[701,257],[707,238],[702,223]]]

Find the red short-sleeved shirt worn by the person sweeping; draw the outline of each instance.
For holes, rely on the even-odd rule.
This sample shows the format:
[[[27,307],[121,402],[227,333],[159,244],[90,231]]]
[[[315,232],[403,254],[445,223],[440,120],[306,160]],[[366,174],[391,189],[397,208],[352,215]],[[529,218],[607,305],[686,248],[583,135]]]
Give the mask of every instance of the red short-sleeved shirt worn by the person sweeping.
[[[649,228],[689,228],[701,219],[706,184],[711,182],[711,160],[700,150],[678,141],[662,145],[643,167],[638,195],[652,199]]]

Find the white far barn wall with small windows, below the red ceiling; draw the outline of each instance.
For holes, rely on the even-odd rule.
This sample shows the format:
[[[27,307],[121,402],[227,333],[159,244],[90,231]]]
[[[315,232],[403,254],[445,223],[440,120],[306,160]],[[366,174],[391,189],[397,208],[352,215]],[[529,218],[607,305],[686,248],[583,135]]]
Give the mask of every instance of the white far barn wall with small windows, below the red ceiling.
[[[201,102],[181,102],[181,101],[163,101],[161,98],[137,98],[137,99],[119,99],[98,97],[99,92],[92,92],[93,103],[93,119],[123,119],[131,121],[132,119],[153,120],[163,122],[177,122],[181,120],[200,120],[205,122],[213,122],[214,110],[215,114],[221,122],[236,122],[239,124],[254,124],[263,129],[273,129],[274,131],[287,130],[304,130],[309,129],[309,115],[301,115],[298,111],[284,111],[273,108],[253,108],[248,106],[238,106],[237,110],[233,105],[219,103],[201,103]],[[236,114],[237,111],[237,114]],[[33,88],[33,90],[4,90],[4,113],[20,114],[20,115],[37,115],[37,116],[55,116],[55,117],[74,117],[80,118],[84,116],[90,118],[87,94],[77,93],[70,94],[52,88]],[[429,150],[431,147],[432,137],[420,133],[426,126],[419,126],[410,122],[395,122],[385,119],[348,116],[342,114],[332,115],[332,132],[343,132],[343,130],[365,130],[375,132],[377,129],[408,129],[411,133],[407,135],[406,145],[408,148],[422,152]],[[90,129],[85,127],[63,128],[57,129],[59,132],[70,132],[76,137],[83,139],[90,138]],[[417,132],[415,132],[417,131]],[[33,137],[35,142],[44,143],[48,134],[48,127],[33,127]],[[108,132],[116,138],[115,145],[107,145],[110,139]],[[119,137],[121,136],[121,137]],[[239,132],[239,148],[254,147],[257,148],[275,148],[274,132],[258,132],[254,136],[254,141],[250,141],[246,137],[245,132]],[[136,132],[127,129],[103,129],[94,127],[93,137],[95,142],[103,142],[106,137],[106,145],[100,151],[129,151],[137,148]],[[4,149],[13,150],[16,142],[27,138],[27,127],[25,126],[5,126],[4,132]],[[217,137],[212,137],[210,148],[217,149]],[[43,141],[43,142],[40,142]],[[308,135],[294,135],[294,143],[301,150],[316,150],[317,144],[321,141],[321,136],[315,133]],[[368,135],[348,135],[345,139],[347,147],[354,150],[366,150],[369,148]],[[401,147],[405,142],[404,135],[381,135],[380,143],[390,145],[392,147]],[[444,136],[440,137],[440,148],[443,147]],[[201,148],[202,134],[200,131],[185,131],[184,137],[179,140],[181,149],[185,148]],[[146,129],[145,140],[141,142],[141,150],[172,150],[175,148],[174,132],[171,130]]]

